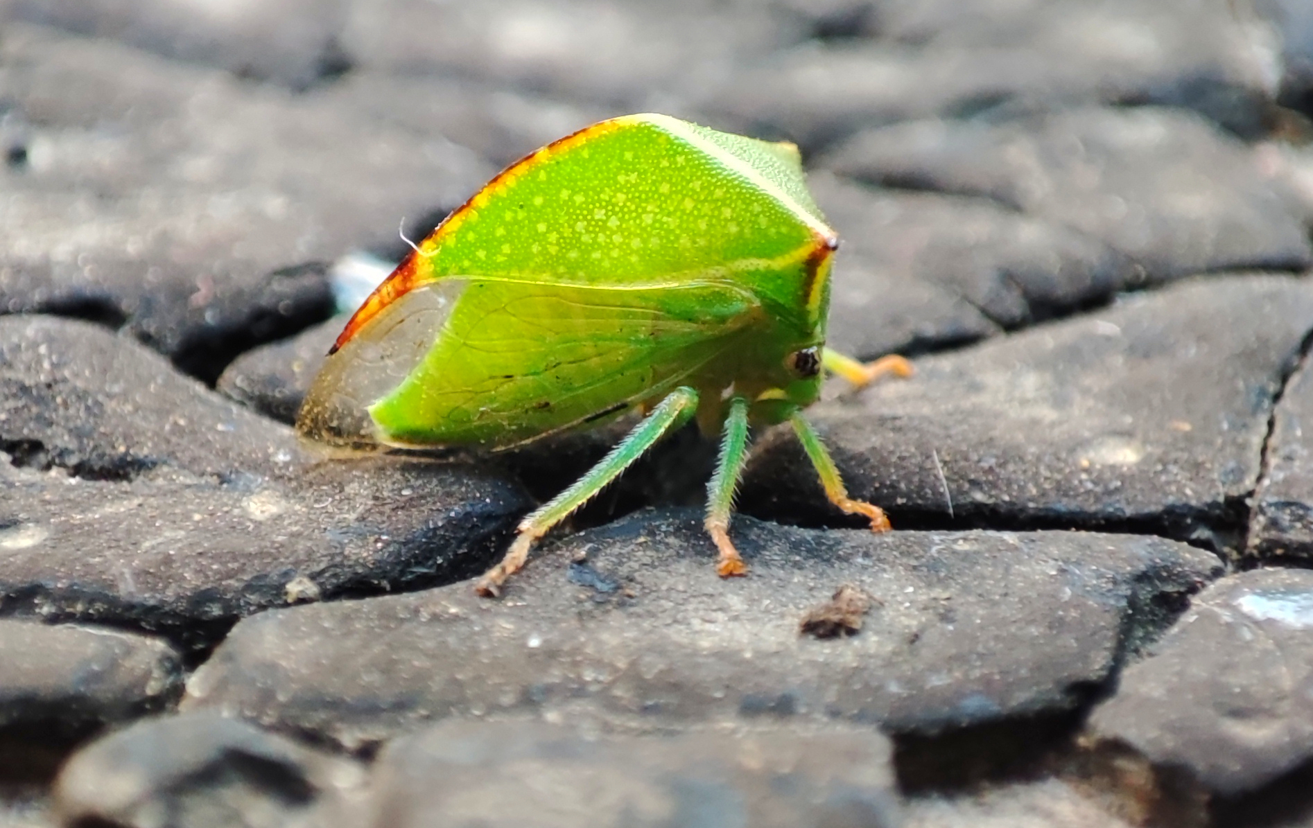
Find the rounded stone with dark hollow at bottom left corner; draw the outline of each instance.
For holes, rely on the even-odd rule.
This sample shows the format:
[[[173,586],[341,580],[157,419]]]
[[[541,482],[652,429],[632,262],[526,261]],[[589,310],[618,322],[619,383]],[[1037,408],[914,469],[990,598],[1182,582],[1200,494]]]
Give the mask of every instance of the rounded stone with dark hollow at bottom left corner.
[[[274,828],[364,783],[355,762],[214,715],[138,722],[77,752],[54,786],[63,825]]]

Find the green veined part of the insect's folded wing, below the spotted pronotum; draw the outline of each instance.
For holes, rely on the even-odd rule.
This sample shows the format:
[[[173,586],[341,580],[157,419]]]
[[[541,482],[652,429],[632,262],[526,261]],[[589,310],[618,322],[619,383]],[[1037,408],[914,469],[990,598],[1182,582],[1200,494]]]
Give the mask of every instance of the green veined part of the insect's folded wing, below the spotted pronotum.
[[[437,342],[369,407],[397,445],[515,445],[663,396],[760,320],[725,285],[470,281]]]

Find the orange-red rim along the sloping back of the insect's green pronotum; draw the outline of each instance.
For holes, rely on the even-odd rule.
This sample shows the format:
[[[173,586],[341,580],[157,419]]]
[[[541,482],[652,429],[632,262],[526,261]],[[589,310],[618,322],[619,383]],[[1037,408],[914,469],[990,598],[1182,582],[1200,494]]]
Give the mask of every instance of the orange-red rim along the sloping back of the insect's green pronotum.
[[[529,155],[524,156],[519,161],[515,161],[492,178],[479,188],[463,205],[452,210],[452,213],[442,219],[442,223],[433,228],[433,232],[421,241],[421,247],[429,251],[427,255],[432,256],[432,252],[441,247],[442,236],[452,234],[465,218],[477,207],[482,207],[488,201],[490,193],[496,193],[506,186],[508,186],[515,178],[523,176],[525,172],[532,169],[536,164],[548,160],[553,155],[563,152],[570,147],[575,146],[586,138],[592,138],[595,135],[609,133],[616,129],[620,122],[629,121],[634,115],[622,115],[620,118],[611,118],[609,121],[600,121],[592,126],[586,126],[576,133],[571,133],[565,138],[558,138],[550,144],[534,150]],[[397,265],[383,282],[374,289],[374,293],[369,294],[369,298],[356,308],[351,319],[347,321],[347,327],[341,329],[337,335],[337,341],[334,342],[332,348],[328,349],[328,356],[337,353],[337,349],[351,341],[356,333],[365,327],[365,324],[373,319],[381,310],[395,302],[397,299],[404,297],[407,293],[424,283],[424,278],[420,277],[420,269],[418,266],[419,253],[411,252],[410,256],[402,260],[402,264]]]

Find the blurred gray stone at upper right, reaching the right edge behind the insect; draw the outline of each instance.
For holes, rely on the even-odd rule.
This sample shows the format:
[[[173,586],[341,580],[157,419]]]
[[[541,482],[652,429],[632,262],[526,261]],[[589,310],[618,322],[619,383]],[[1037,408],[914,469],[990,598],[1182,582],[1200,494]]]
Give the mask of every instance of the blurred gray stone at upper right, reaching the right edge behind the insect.
[[[1001,125],[920,121],[821,161],[856,178],[985,196],[1102,239],[1159,282],[1313,262],[1302,209],[1250,151],[1171,109],[1078,109]]]

